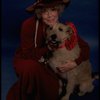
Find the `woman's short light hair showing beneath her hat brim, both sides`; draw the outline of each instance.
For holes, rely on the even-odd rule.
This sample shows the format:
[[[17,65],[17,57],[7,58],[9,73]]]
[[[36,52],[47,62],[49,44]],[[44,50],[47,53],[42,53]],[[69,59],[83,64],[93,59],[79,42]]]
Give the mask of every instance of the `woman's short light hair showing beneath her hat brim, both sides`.
[[[57,6],[54,6],[54,7],[50,7],[50,9],[55,9],[58,11],[59,14],[61,14],[64,10],[64,7],[65,5],[57,5]],[[38,19],[41,18],[41,13],[44,12],[46,9],[48,8],[36,8],[35,9],[35,15],[37,16]]]

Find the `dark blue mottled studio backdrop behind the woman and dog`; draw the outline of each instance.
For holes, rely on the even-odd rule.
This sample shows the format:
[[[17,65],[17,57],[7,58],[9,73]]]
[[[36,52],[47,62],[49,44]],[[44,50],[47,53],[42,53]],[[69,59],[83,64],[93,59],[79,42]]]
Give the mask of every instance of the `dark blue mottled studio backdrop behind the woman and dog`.
[[[6,100],[6,94],[17,80],[12,61],[20,41],[21,23],[31,15],[25,8],[35,0],[2,0],[2,67],[1,67],[1,99]],[[79,35],[89,43],[92,70],[98,72],[98,7],[99,0],[71,0],[71,4],[60,16],[60,20],[72,21],[77,27]],[[97,84],[96,84],[97,86]],[[97,90],[84,100],[99,100]],[[74,99],[75,100],[75,99]],[[78,100],[78,99],[76,99]],[[80,100],[80,99],[79,99]],[[83,99],[82,99],[83,100]]]

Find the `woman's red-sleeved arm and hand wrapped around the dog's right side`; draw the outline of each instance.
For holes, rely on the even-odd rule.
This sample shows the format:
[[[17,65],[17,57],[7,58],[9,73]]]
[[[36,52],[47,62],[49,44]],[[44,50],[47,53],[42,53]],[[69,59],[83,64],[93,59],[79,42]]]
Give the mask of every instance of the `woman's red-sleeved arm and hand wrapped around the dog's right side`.
[[[73,30],[73,32],[75,32],[75,34],[77,34],[76,27],[74,26],[73,23],[69,22],[69,23],[67,23],[67,25],[69,25],[71,27],[71,29]],[[81,39],[78,34],[77,34],[77,42],[80,47],[79,57],[75,60],[68,60],[66,64],[64,64],[62,66],[58,66],[59,71],[61,71],[61,72],[69,71],[69,70],[75,68],[77,65],[81,64],[83,61],[86,61],[89,59],[90,47],[89,47],[88,43],[85,42],[83,39]]]

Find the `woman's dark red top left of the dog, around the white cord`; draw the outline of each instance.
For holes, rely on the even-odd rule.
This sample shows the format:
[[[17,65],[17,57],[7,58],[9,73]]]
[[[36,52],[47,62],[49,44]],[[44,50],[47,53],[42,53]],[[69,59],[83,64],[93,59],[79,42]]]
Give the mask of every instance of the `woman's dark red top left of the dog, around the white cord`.
[[[17,50],[17,56],[23,57],[24,59],[36,58],[39,59],[44,55],[48,49],[45,46],[44,34],[40,24],[37,36],[37,48],[34,46],[35,36],[35,24],[36,19],[34,17],[25,20],[22,23],[20,33],[20,48]]]

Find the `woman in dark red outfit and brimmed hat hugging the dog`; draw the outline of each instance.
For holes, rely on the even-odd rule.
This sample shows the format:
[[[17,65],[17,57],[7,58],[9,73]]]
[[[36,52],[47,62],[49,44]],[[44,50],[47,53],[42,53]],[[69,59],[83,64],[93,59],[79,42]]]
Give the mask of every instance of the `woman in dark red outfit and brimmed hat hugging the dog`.
[[[57,100],[59,96],[59,79],[39,59],[48,48],[45,44],[46,27],[54,27],[59,14],[67,7],[69,0],[38,0],[26,10],[36,15],[25,20],[21,29],[20,47],[14,57],[14,69],[18,81],[7,94],[7,100]],[[67,22],[73,32],[77,30],[71,22]],[[81,48],[80,56],[75,61],[68,61],[59,67],[61,72],[75,68],[89,58],[89,46],[78,37]],[[50,44],[51,49],[55,47]],[[85,51],[85,52],[84,52]]]

